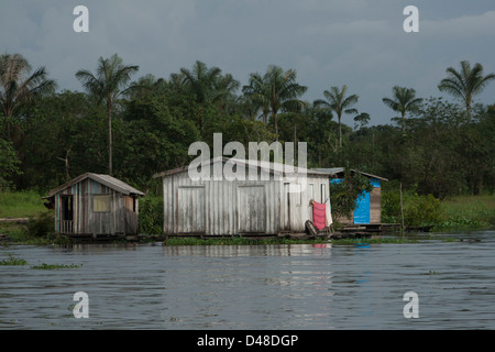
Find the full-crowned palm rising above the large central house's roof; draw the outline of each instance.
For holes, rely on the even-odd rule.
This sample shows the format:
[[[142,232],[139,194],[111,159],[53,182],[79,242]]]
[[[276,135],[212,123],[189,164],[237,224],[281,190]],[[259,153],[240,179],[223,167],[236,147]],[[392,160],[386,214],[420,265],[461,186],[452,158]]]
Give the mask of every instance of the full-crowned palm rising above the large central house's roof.
[[[251,74],[250,84],[243,87],[243,92],[260,105],[265,121],[268,111],[272,113],[275,133],[278,134],[278,111],[296,111],[304,108],[306,103],[297,98],[307,89],[308,87],[296,82],[296,70],[284,72],[280,67],[271,65],[264,76]]]

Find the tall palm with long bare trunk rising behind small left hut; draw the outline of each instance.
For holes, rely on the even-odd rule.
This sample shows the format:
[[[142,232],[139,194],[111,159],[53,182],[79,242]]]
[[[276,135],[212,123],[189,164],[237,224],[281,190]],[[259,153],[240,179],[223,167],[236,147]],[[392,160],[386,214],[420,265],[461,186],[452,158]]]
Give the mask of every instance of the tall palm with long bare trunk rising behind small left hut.
[[[124,92],[131,75],[138,72],[139,66],[124,65],[122,58],[113,54],[110,58],[100,57],[96,75],[87,69],[76,73],[85,89],[98,101],[105,100],[108,116],[108,169],[113,174],[112,165],[112,111],[118,97]]]

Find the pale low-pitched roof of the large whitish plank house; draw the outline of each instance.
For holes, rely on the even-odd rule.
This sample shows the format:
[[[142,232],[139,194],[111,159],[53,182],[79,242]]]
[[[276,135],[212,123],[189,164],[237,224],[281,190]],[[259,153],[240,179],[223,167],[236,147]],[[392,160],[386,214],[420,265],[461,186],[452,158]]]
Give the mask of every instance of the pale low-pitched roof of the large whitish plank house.
[[[292,166],[280,163],[273,163],[273,162],[263,162],[263,161],[251,161],[251,160],[241,160],[241,158],[230,158],[230,157],[215,157],[210,158],[206,162],[207,165],[210,165],[216,162],[222,162],[226,163],[228,161],[232,161],[235,163],[244,164],[246,167],[257,168],[258,170],[263,170],[270,174],[283,174],[283,175],[294,175],[294,174],[302,174],[302,175],[315,175],[315,176],[330,176],[332,175],[329,172],[326,172],[323,169],[311,169],[311,168],[305,168],[305,167],[298,167],[298,166]],[[170,170],[162,172],[155,174],[153,177],[166,177],[170,175],[175,175],[178,173],[187,172],[189,168],[189,165],[182,166],[178,168],[174,168]],[[280,172],[282,170],[282,172]]]

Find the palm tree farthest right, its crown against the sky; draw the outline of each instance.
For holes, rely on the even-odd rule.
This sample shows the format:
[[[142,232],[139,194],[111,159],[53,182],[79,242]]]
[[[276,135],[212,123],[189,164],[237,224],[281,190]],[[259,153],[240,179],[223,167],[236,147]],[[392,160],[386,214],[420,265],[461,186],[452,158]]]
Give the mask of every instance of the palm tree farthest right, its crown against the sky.
[[[483,66],[475,64],[471,67],[468,61],[461,62],[461,70],[447,68],[447,78],[438,85],[440,91],[447,91],[464,101],[468,118],[471,119],[471,103],[473,96],[480,94],[490,80],[495,79],[495,74],[483,76]]]

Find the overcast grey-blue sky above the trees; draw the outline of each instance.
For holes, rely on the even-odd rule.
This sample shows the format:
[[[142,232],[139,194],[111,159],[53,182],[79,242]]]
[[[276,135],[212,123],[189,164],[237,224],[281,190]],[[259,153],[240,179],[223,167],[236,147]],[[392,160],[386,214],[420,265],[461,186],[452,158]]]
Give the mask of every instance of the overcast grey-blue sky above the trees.
[[[89,33],[76,33],[76,6],[89,10]],[[406,33],[407,6],[419,10],[419,32]],[[443,96],[446,68],[463,59],[495,72],[493,0],[1,0],[0,52],[45,66],[59,89],[81,90],[78,69],[100,56],[168,78],[195,61],[230,73],[241,85],[268,65],[296,69],[302,99],[348,85],[372,124],[392,123],[382,102],[395,85],[418,97]],[[448,97],[448,96],[447,96]],[[451,99],[450,97],[448,97]],[[495,102],[495,82],[477,97]],[[351,116],[343,122],[353,125]]]

